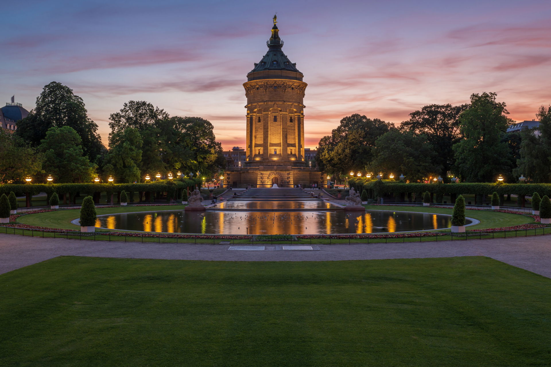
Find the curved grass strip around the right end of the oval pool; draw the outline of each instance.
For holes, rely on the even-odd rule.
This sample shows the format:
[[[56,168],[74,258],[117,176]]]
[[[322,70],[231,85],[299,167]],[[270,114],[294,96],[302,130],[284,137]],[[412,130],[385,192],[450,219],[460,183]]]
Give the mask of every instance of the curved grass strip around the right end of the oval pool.
[[[385,206],[385,205],[364,205],[368,210],[393,210],[393,211],[413,211],[436,214],[451,215],[452,209],[435,208],[426,206]],[[500,213],[492,210],[466,210],[465,216],[474,218],[480,223],[467,227],[468,229],[484,229],[517,226],[518,224],[533,223],[532,217],[527,215],[518,215],[511,213]]]

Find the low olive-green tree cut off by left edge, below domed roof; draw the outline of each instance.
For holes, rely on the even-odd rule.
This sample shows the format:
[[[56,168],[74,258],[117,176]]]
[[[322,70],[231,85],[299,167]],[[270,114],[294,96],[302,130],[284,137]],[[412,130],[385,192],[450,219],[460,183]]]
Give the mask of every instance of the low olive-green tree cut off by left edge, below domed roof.
[[[8,183],[41,172],[41,155],[23,139],[0,129],[0,181]]]

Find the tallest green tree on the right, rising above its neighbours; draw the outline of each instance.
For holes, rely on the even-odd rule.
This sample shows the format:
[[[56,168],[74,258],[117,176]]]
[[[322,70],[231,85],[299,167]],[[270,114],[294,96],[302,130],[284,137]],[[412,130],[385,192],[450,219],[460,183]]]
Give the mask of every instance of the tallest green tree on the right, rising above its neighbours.
[[[510,166],[507,143],[501,141],[510,119],[495,93],[471,95],[471,106],[459,117],[464,136],[453,145],[455,168],[468,182],[491,182]]]

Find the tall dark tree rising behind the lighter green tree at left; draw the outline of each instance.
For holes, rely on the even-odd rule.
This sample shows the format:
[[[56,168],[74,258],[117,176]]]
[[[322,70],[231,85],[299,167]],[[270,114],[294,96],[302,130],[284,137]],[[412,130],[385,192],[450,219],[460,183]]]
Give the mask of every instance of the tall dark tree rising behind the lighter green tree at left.
[[[57,81],[44,86],[36,98],[36,107],[17,124],[15,134],[32,146],[40,145],[51,127],[71,127],[80,136],[82,149],[95,161],[102,149],[98,125],[87,115],[82,98]]]

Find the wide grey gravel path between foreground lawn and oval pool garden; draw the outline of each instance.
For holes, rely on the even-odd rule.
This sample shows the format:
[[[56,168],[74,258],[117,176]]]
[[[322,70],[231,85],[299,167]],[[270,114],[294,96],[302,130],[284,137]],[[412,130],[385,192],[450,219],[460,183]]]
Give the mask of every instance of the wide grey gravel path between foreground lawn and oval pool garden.
[[[0,234],[0,273],[60,255],[109,258],[323,261],[488,256],[551,278],[551,236],[442,241],[318,245],[321,251],[228,251],[228,245],[93,242]]]

